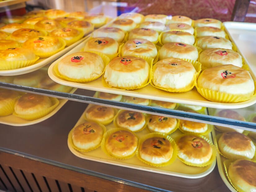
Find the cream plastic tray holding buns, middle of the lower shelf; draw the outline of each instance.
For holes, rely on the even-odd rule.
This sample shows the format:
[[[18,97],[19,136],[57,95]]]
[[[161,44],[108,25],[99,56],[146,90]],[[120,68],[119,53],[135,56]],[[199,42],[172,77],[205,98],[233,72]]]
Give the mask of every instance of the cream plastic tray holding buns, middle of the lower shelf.
[[[88,105],[88,107],[90,106],[91,105]],[[75,124],[74,127],[85,122],[84,115],[85,115],[85,112],[81,115],[81,117],[79,118],[78,122]],[[111,123],[110,125],[107,125],[106,128],[107,130],[109,130],[111,128],[115,128],[115,126],[113,123]],[[149,133],[149,131],[145,128],[144,130],[137,132],[136,135],[138,137],[141,137],[147,133]],[[170,136],[173,139],[175,139],[175,137],[177,137],[179,134],[182,134],[182,132],[180,132],[179,130],[176,130]],[[69,133],[69,137],[70,136],[71,135]],[[210,141],[212,141],[211,133],[209,133],[209,135],[205,135],[205,137],[207,137]],[[92,150],[90,152],[80,152],[75,150],[72,147],[72,144],[69,142],[69,140],[68,140],[68,147],[74,155],[82,159],[88,159],[88,160],[97,161],[101,163],[108,163],[108,164],[118,165],[122,167],[128,167],[128,168],[139,169],[143,171],[149,171],[149,172],[155,172],[155,173],[161,173],[161,174],[191,178],[191,179],[200,178],[208,175],[213,171],[216,164],[216,160],[214,160],[214,162],[211,165],[208,165],[206,167],[193,167],[193,166],[188,166],[182,163],[179,159],[176,159],[174,163],[172,163],[171,165],[168,165],[165,167],[153,167],[145,163],[142,163],[139,159],[137,159],[136,155],[130,159],[118,160],[118,159],[113,159],[108,155],[106,155],[101,150],[101,147],[97,148],[96,150]]]

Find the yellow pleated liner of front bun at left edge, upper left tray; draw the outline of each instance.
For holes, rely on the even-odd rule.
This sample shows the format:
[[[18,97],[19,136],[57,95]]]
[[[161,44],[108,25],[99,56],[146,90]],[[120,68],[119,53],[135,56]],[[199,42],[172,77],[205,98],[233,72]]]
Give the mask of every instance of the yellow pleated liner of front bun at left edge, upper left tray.
[[[19,69],[22,67],[34,65],[38,59],[39,57],[36,56],[36,58],[33,60],[0,61],[0,70]]]

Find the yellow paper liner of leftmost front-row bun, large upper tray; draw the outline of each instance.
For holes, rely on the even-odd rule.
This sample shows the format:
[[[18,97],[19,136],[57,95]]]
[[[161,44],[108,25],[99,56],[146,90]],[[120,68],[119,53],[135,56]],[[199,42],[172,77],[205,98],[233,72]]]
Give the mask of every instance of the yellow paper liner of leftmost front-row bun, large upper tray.
[[[100,53],[100,52],[96,52],[96,51],[87,51],[87,52],[91,52],[91,53],[95,53],[99,56],[101,56],[103,62],[104,62],[104,65],[106,66],[110,59],[108,58],[108,56],[104,55],[103,53]],[[75,83],[87,83],[87,82],[91,82],[91,81],[94,81],[96,80],[97,78],[99,78],[103,73],[104,73],[104,70],[101,72],[101,74],[99,74],[97,77],[93,77],[93,78],[86,78],[86,79],[73,79],[73,78],[69,78],[65,75],[62,75],[60,74],[59,70],[58,70],[58,63],[56,65],[54,65],[54,68],[53,68],[54,72],[56,73],[56,75],[66,81],[70,81],[70,82],[75,82]]]

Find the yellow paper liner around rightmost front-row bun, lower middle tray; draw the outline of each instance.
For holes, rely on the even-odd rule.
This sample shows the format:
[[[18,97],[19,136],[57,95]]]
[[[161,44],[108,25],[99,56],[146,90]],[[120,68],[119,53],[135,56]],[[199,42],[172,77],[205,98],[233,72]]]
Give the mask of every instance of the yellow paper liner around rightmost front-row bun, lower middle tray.
[[[175,139],[176,143],[177,143],[177,141],[178,141],[181,137],[187,136],[187,135],[189,135],[189,136],[192,135],[192,136],[201,137],[201,138],[203,138],[205,141],[207,141],[207,143],[209,143],[209,145],[210,145],[211,148],[212,148],[212,152],[213,152],[213,153],[212,153],[212,156],[211,156],[211,158],[210,158],[209,161],[207,161],[207,162],[205,162],[205,163],[201,163],[201,164],[196,164],[196,163],[187,162],[187,161],[185,161],[184,159],[181,159],[181,158],[179,157],[179,155],[177,155],[177,156],[178,156],[178,159],[179,159],[182,163],[185,163],[186,165],[194,166],[194,167],[206,167],[206,166],[212,164],[213,161],[216,159],[216,148],[215,148],[215,146],[213,145],[213,143],[212,143],[209,139],[207,139],[206,137],[204,137],[204,136],[197,135],[197,134],[192,134],[192,133],[189,133],[189,134],[188,134],[188,133],[185,133],[185,134],[179,135],[179,136]]]

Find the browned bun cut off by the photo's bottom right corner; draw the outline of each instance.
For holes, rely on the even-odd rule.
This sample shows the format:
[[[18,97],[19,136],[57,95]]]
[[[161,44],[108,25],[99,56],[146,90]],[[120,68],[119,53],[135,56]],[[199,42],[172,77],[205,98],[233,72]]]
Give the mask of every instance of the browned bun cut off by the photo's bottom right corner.
[[[254,191],[256,188],[256,163],[237,159],[228,167],[228,176],[238,191]]]

